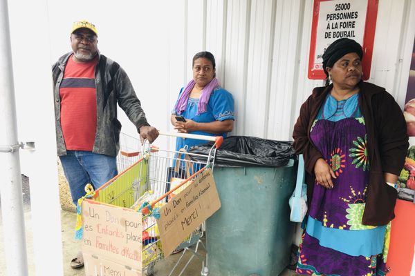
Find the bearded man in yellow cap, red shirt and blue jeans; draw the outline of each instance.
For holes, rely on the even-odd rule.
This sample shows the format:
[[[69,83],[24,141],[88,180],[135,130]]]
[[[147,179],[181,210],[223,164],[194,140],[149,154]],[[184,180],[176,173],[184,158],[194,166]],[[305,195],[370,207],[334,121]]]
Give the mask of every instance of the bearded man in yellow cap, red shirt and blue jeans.
[[[95,25],[82,20],[71,29],[72,52],[53,65],[57,155],[61,159],[74,204],[84,186],[97,189],[117,175],[121,124],[117,103],[136,126],[140,139],[158,137],[150,126],[127,73],[101,55]],[[73,268],[84,265],[82,254]]]

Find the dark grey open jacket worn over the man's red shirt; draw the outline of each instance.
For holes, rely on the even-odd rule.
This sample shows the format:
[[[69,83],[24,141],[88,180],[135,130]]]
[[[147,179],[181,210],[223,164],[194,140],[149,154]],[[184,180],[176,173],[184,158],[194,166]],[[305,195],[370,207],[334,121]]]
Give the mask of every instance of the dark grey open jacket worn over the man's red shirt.
[[[59,96],[59,86],[64,77],[66,61],[71,55],[72,52],[63,55],[52,67],[57,155],[59,156],[66,155],[66,146],[60,124],[61,99]],[[98,53],[98,59],[95,67],[97,129],[92,151],[115,157],[120,148],[121,130],[121,123],[117,119],[117,103],[136,126],[137,130],[141,126],[149,126],[149,124],[127,73],[118,63],[104,55],[100,55],[100,53]]]

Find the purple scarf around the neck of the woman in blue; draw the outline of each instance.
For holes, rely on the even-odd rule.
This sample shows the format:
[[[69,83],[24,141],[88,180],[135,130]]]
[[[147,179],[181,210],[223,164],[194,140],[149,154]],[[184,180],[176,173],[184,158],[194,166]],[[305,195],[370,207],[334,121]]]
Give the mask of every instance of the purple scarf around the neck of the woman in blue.
[[[202,95],[199,99],[199,103],[197,105],[197,113],[196,115],[201,115],[201,113],[206,112],[206,109],[208,108],[208,101],[210,99],[210,94],[212,94],[212,91],[214,88],[218,87],[218,79],[213,78],[208,85],[206,85],[202,90]],[[174,109],[176,109],[177,114],[181,114],[186,107],[187,107],[187,100],[189,99],[190,92],[192,92],[192,89],[194,87],[194,80],[192,79],[187,83],[187,86],[185,87],[185,90],[183,90],[180,99],[178,99],[176,106]]]

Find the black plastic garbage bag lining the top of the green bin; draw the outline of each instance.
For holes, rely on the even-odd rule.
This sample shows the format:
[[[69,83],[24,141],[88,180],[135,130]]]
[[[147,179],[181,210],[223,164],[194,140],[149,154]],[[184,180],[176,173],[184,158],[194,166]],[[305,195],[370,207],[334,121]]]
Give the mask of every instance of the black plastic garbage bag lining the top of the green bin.
[[[190,148],[189,152],[208,155],[213,142]],[[205,162],[207,158],[190,155],[194,161]],[[278,167],[297,159],[292,141],[274,141],[258,137],[230,136],[216,150],[214,164],[219,166]]]

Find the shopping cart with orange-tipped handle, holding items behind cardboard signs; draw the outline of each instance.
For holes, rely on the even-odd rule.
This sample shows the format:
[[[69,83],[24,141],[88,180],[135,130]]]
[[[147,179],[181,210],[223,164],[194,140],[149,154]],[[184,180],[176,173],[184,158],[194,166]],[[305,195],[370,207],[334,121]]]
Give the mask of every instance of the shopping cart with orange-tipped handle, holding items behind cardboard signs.
[[[154,265],[159,259],[163,258],[160,235],[156,224],[158,208],[166,204],[169,199],[180,193],[181,190],[184,190],[186,186],[192,184],[192,179],[203,172],[205,168],[213,168],[216,149],[219,148],[223,141],[223,137],[181,133],[160,132],[160,137],[165,137],[167,140],[176,139],[176,137],[201,139],[214,141],[214,144],[207,155],[196,156],[187,152],[187,149],[180,151],[164,150],[162,147],[156,147],[145,142],[142,150],[137,150],[137,148],[133,150],[133,152],[138,152],[137,155],[130,156],[137,158],[136,162],[122,170],[107,184],[95,190],[90,199],[85,199],[86,202],[93,202],[94,204],[109,204],[118,206],[118,208],[141,211],[142,248],[140,259],[142,264],[140,267],[147,275],[153,275]],[[127,158],[129,153],[131,152],[120,152],[121,157],[118,157],[120,165],[125,166],[131,162]],[[199,157],[197,159],[203,157],[206,161],[194,161],[192,157]],[[199,226],[178,246],[178,249],[183,249],[183,253],[169,275],[174,273],[186,252],[192,253],[192,256],[179,275],[183,274],[193,257],[201,259],[201,275],[208,275],[205,257],[197,252],[200,245],[205,248],[201,241],[203,231],[204,225]],[[193,245],[195,248],[191,249],[190,246]]]

